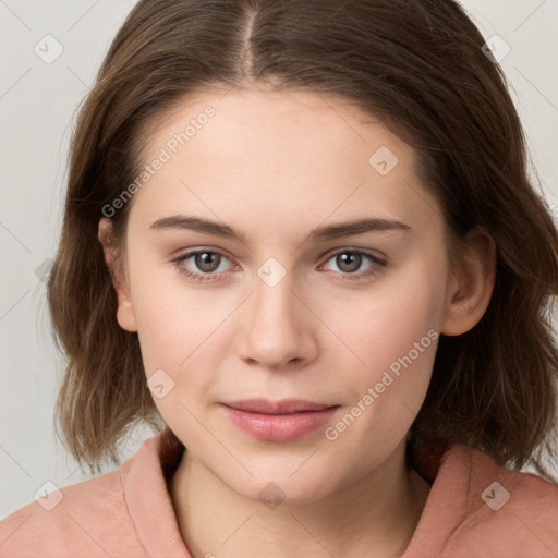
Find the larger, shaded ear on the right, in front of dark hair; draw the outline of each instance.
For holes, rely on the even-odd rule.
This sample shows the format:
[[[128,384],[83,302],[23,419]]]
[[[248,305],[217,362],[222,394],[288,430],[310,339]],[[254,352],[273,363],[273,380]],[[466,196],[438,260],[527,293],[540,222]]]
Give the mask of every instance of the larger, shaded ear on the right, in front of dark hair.
[[[496,243],[477,227],[468,234],[465,251],[449,282],[440,332],[459,336],[472,329],[488,307],[495,280]]]

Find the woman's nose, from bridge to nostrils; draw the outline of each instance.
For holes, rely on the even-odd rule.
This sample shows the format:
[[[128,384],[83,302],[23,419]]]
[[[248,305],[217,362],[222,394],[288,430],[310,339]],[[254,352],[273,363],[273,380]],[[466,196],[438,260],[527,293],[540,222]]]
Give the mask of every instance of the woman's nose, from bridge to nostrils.
[[[294,292],[291,275],[274,287],[254,278],[239,345],[241,356],[252,364],[270,369],[300,367],[317,355],[317,320],[308,302],[302,302],[304,296]]]

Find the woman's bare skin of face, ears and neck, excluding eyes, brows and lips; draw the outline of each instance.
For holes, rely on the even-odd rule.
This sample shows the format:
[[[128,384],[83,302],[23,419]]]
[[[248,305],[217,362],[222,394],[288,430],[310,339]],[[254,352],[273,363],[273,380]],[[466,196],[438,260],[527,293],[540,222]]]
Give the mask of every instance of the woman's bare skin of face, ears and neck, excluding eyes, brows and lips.
[[[216,116],[135,194],[122,253],[110,221],[99,222],[119,324],[137,331],[146,377],[162,368],[174,381],[154,400],[187,448],[169,483],[184,541],[194,557],[401,556],[428,495],[404,452],[437,341],[336,440],[325,426],[258,440],[220,402],[339,404],[326,426],[335,425],[429,330],[460,335],[481,319],[494,241],[474,231],[450,272],[441,208],[416,177],[414,150],[369,114],[310,92],[252,86],[191,97],[153,134],[145,162],[207,105]],[[368,162],[381,146],[399,159],[386,175]],[[177,214],[226,223],[246,242],[150,229]],[[369,217],[412,230],[307,240],[316,227]],[[172,259],[195,248],[223,253],[218,280],[179,272]],[[356,274],[375,272],[343,281],[351,272],[331,255],[338,248],[387,265],[363,256]],[[257,275],[270,257],[287,274],[275,287]],[[194,257],[182,267],[207,269]],[[284,497],[274,509],[258,497],[269,483]]]

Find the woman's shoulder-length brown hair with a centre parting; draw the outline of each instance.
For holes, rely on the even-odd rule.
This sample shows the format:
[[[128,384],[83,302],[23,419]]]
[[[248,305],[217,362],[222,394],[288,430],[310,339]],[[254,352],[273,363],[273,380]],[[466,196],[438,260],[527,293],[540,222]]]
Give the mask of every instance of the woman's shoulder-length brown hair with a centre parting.
[[[48,283],[68,354],[57,417],[64,444],[93,471],[133,424],[163,422],[146,386],[136,333],[97,239],[107,203],[138,174],[156,122],[175,102],[266,84],[345,99],[420,156],[444,209],[449,246],[475,226],[497,245],[481,322],[441,336],[413,444],[460,441],[541,474],[557,418],[558,352],[550,315],[558,232],[526,173],[521,123],[499,65],[452,0],[142,0],[118,32],[72,137],[59,252]],[[130,203],[112,216],[123,246]],[[452,239],[457,241],[453,243]],[[454,250],[449,252],[451,258]]]

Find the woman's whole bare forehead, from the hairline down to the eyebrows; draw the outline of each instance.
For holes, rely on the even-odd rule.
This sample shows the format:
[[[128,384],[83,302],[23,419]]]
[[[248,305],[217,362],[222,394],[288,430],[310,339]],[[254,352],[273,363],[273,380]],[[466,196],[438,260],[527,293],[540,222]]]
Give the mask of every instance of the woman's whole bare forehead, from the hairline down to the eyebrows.
[[[349,101],[306,90],[183,99],[149,137],[143,163],[157,159],[134,201],[146,219],[184,210],[238,223],[240,213],[269,227],[304,217],[310,228],[360,211],[412,221],[428,196],[409,145]]]

